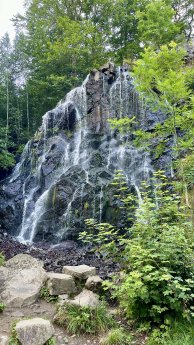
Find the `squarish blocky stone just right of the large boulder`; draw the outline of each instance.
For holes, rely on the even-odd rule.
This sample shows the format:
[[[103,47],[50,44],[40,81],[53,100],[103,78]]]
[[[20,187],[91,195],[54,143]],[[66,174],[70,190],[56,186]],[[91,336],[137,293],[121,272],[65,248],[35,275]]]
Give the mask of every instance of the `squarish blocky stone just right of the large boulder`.
[[[47,287],[51,295],[70,294],[75,291],[75,282],[69,274],[48,273]]]

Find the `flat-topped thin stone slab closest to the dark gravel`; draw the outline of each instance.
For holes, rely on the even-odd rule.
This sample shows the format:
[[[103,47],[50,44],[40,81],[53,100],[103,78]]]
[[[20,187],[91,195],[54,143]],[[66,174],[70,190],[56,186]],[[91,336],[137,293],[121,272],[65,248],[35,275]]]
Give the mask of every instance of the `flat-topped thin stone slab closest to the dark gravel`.
[[[87,265],[64,266],[63,273],[70,274],[72,277],[78,279],[87,279],[90,276],[96,275],[96,268]]]

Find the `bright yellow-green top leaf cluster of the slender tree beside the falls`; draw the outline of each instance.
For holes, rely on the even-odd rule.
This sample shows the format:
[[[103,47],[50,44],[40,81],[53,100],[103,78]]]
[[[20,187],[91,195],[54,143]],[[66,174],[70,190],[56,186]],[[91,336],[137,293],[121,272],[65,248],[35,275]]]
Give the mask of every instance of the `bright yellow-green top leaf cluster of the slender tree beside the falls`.
[[[171,42],[157,52],[145,49],[134,67],[138,90],[149,98],[152,96],[155,102],[158,100],[159,105],[168,111],[181,99],[186,101],[190,94],[183,69],[185,54],[184,49]]]

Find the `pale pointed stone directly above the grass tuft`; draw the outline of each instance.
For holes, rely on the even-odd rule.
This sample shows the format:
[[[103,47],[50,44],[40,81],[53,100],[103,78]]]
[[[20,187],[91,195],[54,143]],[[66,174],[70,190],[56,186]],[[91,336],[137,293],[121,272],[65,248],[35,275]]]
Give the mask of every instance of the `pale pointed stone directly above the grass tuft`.
[[[100,303],[99,296],[94,292],[84,289],[79,295],[66,303],[78,305],[80,307],[97,307]]]

